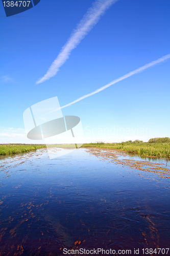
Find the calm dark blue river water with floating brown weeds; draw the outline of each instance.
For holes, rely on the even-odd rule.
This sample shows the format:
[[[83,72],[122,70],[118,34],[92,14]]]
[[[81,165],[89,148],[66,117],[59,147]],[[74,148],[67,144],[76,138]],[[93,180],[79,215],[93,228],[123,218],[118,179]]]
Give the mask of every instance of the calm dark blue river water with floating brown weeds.
[[[45,149],[4,158],[0,169],[0,255],[169,246],[169,178],[83,148],[53,160]]]

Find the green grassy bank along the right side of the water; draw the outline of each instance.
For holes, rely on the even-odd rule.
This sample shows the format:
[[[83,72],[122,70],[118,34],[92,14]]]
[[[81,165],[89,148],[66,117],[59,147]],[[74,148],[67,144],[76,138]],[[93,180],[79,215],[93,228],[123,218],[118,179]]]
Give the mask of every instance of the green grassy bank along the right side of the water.
[[[114,148],[144,157],[170,158],[170,142],[88,143],[83,147]]]

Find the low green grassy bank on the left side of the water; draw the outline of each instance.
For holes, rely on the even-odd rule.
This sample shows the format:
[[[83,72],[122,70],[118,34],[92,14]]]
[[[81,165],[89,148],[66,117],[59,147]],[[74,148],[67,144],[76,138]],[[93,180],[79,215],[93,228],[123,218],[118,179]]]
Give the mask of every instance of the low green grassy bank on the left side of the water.
[[[0,155],[12,155],[37,150],[46,147],[40,144],[0,144]]]

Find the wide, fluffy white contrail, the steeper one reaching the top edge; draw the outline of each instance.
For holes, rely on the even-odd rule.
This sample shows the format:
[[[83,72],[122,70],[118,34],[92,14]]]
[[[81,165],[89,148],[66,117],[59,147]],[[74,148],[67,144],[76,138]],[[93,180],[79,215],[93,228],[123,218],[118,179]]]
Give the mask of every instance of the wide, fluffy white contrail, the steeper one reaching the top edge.
[[[100,17],[105,13],[105,11],[117,1],[118,0],[96,0],[93,3],[92,7],[88,9],[80,23],[77,25],[75,31],[63,46],[57,58],[53,61],[51,67],[36,83],[44,82],[56,75],[59,68],[68,59],[70,52],[80,44],[80,41],[87,35],[94,25],[98,23]]]

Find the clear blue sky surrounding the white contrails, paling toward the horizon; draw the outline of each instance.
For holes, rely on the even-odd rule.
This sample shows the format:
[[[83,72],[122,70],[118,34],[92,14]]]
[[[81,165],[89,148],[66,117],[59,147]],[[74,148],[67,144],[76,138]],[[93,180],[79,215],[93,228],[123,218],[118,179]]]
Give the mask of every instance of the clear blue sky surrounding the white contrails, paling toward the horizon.
[[[60,105],[169,54],[169,0],[119,0],[100,18],[56,76],[36,84],[51,66],[91,0],[41,0],[1,20],[0,143],[32,143],[23,112],[58,96]],[[85,140],[121,142],[170,137],[170,60],[62,110],[81,118]]]

